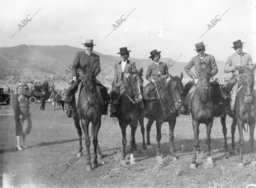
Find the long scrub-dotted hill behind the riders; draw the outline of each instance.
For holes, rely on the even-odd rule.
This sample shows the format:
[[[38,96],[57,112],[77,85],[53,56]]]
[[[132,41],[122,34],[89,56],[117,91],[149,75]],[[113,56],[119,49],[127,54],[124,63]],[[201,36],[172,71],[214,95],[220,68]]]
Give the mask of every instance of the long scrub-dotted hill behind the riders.
[[[66,75],[65,70],[69,70],[69,65],[73,64],[76,53],[83,49],[63,46],[39,46],[39,45],[19,45],[14,47],[0,48],[0,79],[9,79],[11,76],[17,76],[21,71],[21,80],[44,80],[49,77],[54,80],[60,80]],[[104,55],[95,51],[100,56],[101,72],[97,77],[102,84],[111,86],[114,75],[114,65],[120,61],[120,56]],[[129,58],[135,61],[137,68],[143,67],[144,78],[147,72],[147,66],[152,63],[151,59]],[[168,62],[171,58],[161,58],[162,62]],[[172,75],[184,73],[185,78],[189,78],[183,68],[187,62],[175,62],[170,67],[169,72]],[[219,72],[216,75],[219,78],[227,77],[223,72],[223,61],[217,61]],[[192,70],[194,72],[194,69]],[[70,75],[64,80],[69,80]],[[186,80],[187,80],[186,79]],[[145,84],[148,81],[145,80]]]

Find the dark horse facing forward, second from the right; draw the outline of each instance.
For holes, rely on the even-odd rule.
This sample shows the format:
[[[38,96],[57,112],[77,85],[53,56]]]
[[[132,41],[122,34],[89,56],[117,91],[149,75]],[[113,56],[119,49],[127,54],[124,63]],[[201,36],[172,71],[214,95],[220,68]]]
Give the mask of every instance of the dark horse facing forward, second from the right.
[[[197,148],[199,146],[199,125],[200,123],[206,124],[206,144],[208,145],[207,156],[211,156],[211,127],[213,125],[213,117],[215,114],[213,104],[213,94],[210,91],[210,67],[199,67],[199,81],[197,82],[197,89],[191,98],[191,115],[192,125],[194,130],[194,151],[190,168],[196,168]]]

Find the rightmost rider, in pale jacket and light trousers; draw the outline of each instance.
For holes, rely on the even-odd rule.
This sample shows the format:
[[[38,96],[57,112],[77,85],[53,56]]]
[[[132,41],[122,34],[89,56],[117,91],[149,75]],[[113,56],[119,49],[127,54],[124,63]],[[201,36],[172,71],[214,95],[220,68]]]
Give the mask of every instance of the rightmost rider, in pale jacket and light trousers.
[[[228,81],[227,84],[223,86],[224,91],[226,93],[230,93],[230,100],[231,100],[231,110],[234,111],[235,108],[235,99],[238,92],[238,81],[237,77],[240,74],[239,70],[237,70],[239,67],[248,66],[250,68],[253,68],[254,64],[252,63],[251,56],[248,53],[243,52],[243,44],[244,42],[241,42],[241,40],[237,40],[233,42],[233,47],[236,51],[236,53],[232,54],[228,57],[228,60],[224,67],[224,72],[232,72],[232,77]]]

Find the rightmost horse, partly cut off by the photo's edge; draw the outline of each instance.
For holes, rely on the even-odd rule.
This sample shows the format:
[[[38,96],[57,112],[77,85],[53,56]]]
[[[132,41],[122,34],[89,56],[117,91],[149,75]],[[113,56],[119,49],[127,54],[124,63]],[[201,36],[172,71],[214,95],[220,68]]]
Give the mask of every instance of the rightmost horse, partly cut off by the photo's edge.
[[[256,100],[254,95],[254,70],[256,69],[256,64],[253,68],[243,67],[238,68],[239,75],[242,80],[242,88],[238,91],[236,101],[235,101],[235,119],[237,121],[237,128],[239,132],[239,159],[238,167],[243,167],[243,129],[245,130],[244,124],[247,123],[247,131],[249,125],[249,142],[251,144],[251,166],[256,165],[256,160],[254,156],[254,129],[256,121]]]

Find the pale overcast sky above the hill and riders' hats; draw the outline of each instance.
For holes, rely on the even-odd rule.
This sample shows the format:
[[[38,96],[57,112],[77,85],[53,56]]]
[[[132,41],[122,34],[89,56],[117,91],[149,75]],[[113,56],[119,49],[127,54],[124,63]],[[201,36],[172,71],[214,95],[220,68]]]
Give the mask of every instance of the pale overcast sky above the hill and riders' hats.
[[[116,20],[129,13],[126,21],[111,32]],[[19,30],[18,24],[23,25],[21,21],[33,14]],[[221,15],[208,30],[207,24]],[[0,3],[0,47],[28,44],[83,48],[83,39],[94,39],[94,50],[103,54],[117,56],[119,48],[127,46],[133,58],[148,58],[150,51],[157,49],[166,58],[176,59],[183,53],[179,61],[188,62],[197,55],[194,44],[204,42],[208,44],[206,53],[226,61],[235,53],[232,42],[241,39],[244,52],[255,62],[255,16],[253,0],[8,0]]]

